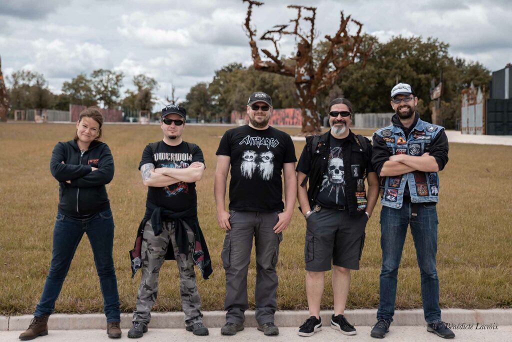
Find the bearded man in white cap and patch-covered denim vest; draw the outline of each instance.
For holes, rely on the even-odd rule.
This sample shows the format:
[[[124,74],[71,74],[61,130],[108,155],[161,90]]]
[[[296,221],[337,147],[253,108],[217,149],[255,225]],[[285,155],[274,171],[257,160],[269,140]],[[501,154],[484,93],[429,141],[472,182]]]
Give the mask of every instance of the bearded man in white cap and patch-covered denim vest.
[[[396,114],[392,124],[373,134],[372,164],[380,176],[380,300],[372,337],[383,338],[395,312],[398,266],[407,226],[416,247],[421,275],[421,298],[427,331],[443,338],[455,334],[441,321],[436,270],[438,171],[448,162],[444,127],[425,122],[415,111],[413,88],[398,83],[391,90]]]

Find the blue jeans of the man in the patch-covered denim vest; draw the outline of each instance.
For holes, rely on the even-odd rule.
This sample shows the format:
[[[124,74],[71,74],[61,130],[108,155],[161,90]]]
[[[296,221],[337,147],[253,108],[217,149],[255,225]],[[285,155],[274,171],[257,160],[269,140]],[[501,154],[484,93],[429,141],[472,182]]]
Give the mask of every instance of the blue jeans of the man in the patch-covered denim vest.
[[[439,308],[439,279],[436,270],[437,210],[435,205],[418,204],[418,216],[412,216],[412,204],[404,203],[400,209],[382,206],[380,211],[380,300],[377,319],[393,320],[395,313],[398,266],[406,240],[407,226],[416,247],[416,258],[421,275],[423,313],[428,324],[441,320]]]

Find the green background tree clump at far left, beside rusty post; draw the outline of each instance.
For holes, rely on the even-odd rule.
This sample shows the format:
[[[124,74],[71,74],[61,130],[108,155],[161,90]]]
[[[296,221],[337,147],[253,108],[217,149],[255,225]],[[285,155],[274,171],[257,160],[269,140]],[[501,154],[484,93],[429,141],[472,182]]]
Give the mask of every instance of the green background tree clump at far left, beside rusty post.
[[[7,77],[11,109],[48,109],[53,104],[53,94],[42,74],[19,70]]]

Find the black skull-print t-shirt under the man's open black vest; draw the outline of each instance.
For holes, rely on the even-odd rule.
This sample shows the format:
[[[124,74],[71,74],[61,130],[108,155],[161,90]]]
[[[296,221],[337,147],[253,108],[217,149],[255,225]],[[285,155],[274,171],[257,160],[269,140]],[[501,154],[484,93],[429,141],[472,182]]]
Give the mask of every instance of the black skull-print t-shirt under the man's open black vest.
[[[316,202],[325,208],[344,208],[347,205],[347,199],[345,197],[343,145],[348,142],[349,137],[336,139],[330,135],[329,139],[329,162]]]

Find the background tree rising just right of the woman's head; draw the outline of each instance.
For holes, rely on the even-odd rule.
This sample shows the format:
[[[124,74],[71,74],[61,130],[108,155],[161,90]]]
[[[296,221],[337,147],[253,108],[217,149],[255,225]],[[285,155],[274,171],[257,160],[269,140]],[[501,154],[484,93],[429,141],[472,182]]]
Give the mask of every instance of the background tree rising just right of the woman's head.
[[[123,86],[123,73],[98,69],[91,74],[96,101],[105,108],[115,108],[119,104],[120,91]]]

